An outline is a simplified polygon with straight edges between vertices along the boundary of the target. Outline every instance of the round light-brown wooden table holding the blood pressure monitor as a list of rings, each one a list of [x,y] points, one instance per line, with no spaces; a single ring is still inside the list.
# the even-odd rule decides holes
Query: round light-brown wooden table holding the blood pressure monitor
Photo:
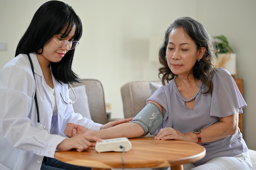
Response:
[[[129,139],[132,148],[124,153],[124,168],[163,168],[183,170],[182,164],[192,163],[205,156],[199,144],[187,141],[156,140],[153,137]],[[77,166],[97,169],[122,168],[122,152],[101,152],[94,148],[85,152],[57,151],[55,158]]]

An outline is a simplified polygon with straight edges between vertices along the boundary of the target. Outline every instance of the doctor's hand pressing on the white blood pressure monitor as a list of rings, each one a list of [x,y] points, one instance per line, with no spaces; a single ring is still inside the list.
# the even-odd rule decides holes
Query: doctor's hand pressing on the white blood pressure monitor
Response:
[[[75,137],[66,138],[60,144],[58,144],[58,150],[71,150],[76,149],[78,152],[87,150],[90,147],[95,147],[95,144],[88,140],[102,141],[102,139],[92,135],[77,135]]]

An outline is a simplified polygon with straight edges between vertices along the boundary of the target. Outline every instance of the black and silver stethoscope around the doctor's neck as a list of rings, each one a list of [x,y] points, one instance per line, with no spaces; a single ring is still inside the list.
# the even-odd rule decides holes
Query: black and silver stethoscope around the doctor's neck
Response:
[[[33,75],[34,75],[34,79],[36,81],[36,77],[35,77],[35,72],[34,72],[34,67],[33,67],[33,63],[32,63],[32,60],[31,60],[31,57],[29,55],[29,53],[27,53],[27,56],[29,57],[29,62],[30,62],[30,65],[31,65],[31,69],[32,69],[32,72],[33,72]],[[70,83],[69,83],[70,85]],[[62,97],[62,94],[61,94],[61,99],[62,101],[65,103],[65,104],[74,104],[76,102],[76,93],[74,92],[74,89],[72,88],[72,86],[70,85],[70,88],[72,90],[72,92],[74,93],[74,96],[75,96],[75,100],[74,101],[71,101],[71,102],[65,102],[65,100],[63,99]],[[60,92],[61,93],[61,92]],[[39,109],[38,109],[38,102],[37,102],[37,98],[36,98],[36,91],[35,91],[35,102],[36,102],[36,113],[37,113],[37,123],[38,125],[36,126],[36,128],[40,129],[40,130],[45,130],[45,126],[43,124],[40,124],[40,120],[39,120]]]

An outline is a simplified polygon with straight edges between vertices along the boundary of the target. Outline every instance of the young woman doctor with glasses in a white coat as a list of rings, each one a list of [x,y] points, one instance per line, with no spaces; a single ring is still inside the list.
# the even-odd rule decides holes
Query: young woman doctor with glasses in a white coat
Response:
[[[67,138],[67,123],[99,130],[130,121],[101,125],[74,113],[68,85],[78,82],[71,65],[81,35],[81,20],[69,5],[49,1],[36,11],[16,57],[0,72],[0,170],[88,170],[54,159],[56,150],[81,152],[94,146],[88,140],[101,141]]]

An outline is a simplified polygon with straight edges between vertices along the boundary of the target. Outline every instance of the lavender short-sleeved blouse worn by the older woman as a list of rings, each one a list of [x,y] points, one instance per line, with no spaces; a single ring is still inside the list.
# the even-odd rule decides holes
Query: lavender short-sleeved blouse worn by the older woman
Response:
[[[206,86],[201,84],[200,91],[195,97],[193,110],[186,108],[175,79],[168,85],[157,89],[148,100],[157,102],[164,108],[164,122],[159,129],[172,127],[182,133],[187,133],[195,128],[204,129],[211,126],[221,117],[243,113],[242,108],[247,104],[229,72],[224,68],[218,68],[213,73],[212,80],[212,93],[202,94]],[[196,166],[216,157],[235,156],[248,150],[239,128],[234,135],[201,145],[206,149],[206,155],[194,163]]]

